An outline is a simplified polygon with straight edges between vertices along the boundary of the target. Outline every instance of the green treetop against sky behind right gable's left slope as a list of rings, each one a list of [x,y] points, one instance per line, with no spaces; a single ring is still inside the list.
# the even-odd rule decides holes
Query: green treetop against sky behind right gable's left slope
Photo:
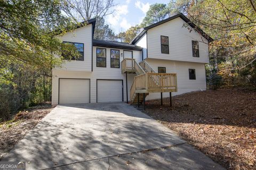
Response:
[[[162,21],[169,16],[169,13],[170,9],[166,4],[155,3],[153,5],[150,5],[145,18],[141,22],[141,26],[147,27],[148,25]]]

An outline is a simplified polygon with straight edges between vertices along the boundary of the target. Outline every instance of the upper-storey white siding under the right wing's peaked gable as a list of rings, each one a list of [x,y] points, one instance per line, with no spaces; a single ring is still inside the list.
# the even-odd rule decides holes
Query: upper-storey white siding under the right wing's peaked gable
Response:
[[[198,32],[183,27],[186,24],[181,18],[158,25],[147,31],[148,57],[172,61],[189,61],[209,63],[209,49],[207,40]],[[161,36],[169,37],[169,53],[161,53]],[[193,57],[192,40],[199,41],[199,56]]]

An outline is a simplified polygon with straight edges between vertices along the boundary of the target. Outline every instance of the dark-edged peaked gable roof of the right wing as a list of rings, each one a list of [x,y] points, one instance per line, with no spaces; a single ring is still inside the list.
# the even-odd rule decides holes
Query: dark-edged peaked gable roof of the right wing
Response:
[[[142,28],[140,30],[140,32],[133,38],[133,40],[131,41],[131,44],[135,44],[137,43],[137,41],[143,36],[145,35],[145,33],[147,32],[147,30],[149,30],[150,28],[154,28],[158,25],[161,25],[165,22],[168,22],[168,21],[171,21],[171,20],[174,20],[176,18],[180,17],[183,21],[185,21],[186,23],[188,23],[190,25],[190,27],[196,29],[199,33],[201,33],[201,35],[208,40],[208,42],[212,42],[213,39],[208,36],[203,30],[201,30],[200,28],[198,28],[193,22],[191,22],[185,15],[179,13],[177,15],[174,15],[174,16],[171,16],[170,18],[167,18],[165,20],[162,20],[162,21],[159,21],[157,23],[154,23],[154,24],[151,24],[149,25],[148,27],[145,27],[145,28]]]

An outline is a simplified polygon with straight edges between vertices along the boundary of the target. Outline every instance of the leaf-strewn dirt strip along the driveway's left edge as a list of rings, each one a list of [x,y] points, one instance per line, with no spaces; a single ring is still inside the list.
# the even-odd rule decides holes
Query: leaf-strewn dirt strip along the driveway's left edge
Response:
[[[12,120],[0,123],[0,161],[51,110],[51,104],[31,107],[13,115]]]

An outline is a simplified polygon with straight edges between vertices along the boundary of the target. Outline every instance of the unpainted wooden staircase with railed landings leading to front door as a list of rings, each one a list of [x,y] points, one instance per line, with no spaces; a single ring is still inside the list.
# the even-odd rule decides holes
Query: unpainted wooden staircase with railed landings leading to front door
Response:
[[[176,73],[156,73],[146,61],[138,64],[135,59],[122,61],[122,73],[136,73],[130,90],[130,104],[140,104],[150,92],[177,91]],[[139,102],[138,102],[139,100]]]

